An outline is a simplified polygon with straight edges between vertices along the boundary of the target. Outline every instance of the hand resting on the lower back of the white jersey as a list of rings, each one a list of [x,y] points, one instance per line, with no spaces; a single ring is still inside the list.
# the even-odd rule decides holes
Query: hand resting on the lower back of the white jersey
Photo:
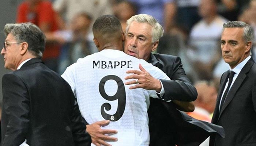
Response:
[[[101,129],[102,126],[109,124],[109,120],[103,120],[95,122],[90,125],[86,125],[86,131],[91,135],[91,141],[96,146],[111,146],[105,141],[117,141],[115,137],[109,137],[105,134],[116,134],[116,130]]]

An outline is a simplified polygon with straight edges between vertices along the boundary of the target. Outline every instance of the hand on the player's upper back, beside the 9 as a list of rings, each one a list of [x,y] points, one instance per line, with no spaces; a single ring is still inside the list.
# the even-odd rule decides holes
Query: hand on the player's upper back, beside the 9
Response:
[[[125,85],[134,86],[129,87],[129,89],[143,88],[147,90],[155,90],[157,92],[161,91],[161,83],[157,78],[154,78],[145,70],[141,64],[139,64],[140,70],[128,70],[126,73],[133,73],[130,76],[125,77],[125,80],[136,79],[133,81],[125,82]]]

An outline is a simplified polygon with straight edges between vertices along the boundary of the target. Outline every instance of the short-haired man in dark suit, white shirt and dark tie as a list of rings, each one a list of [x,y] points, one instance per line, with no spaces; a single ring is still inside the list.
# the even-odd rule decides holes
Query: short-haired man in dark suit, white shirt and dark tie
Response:
[[[210,146],[256,145],[256,64],[251,57],[253,30],[241,21],[223,24],[221,50],[230,69],[222,74],[212,123],[226,137],[210,137]]]

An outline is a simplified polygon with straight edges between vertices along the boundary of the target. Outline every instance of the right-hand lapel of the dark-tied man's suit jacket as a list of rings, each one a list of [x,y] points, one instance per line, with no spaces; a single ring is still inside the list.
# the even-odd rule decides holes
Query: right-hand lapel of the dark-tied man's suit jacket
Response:
[[[245,66],[242,68],[241,72],[238,74],[236,80],[234,81],[232,87],[230,88],[229,93],[227,94],[226,100],[223,104],[223,107],[221,109],[221,112],[219,114],[219,117],[221,116],[222,112],[225,110],[225,108],[227,107],[227,105],[230,103],[230,101],[234,98],[234,96],[236,95],[236,92],[238,90],[238,88],[241,86],[242,82],[244,81],[244,79],[246,78],[246,73],[249,72],[249,70],[251,69],[252,65],[253,65],[253,60],[252,58],[245,64]]]

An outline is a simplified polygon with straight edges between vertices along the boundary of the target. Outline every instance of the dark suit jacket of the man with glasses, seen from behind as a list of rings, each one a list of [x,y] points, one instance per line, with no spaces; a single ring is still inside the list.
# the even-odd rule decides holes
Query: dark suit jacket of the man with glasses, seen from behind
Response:
[[[25,139],[30,146],[91,142],[69,84],[40,59],[5,74],[2,86],[2,146],[18,146]]]

